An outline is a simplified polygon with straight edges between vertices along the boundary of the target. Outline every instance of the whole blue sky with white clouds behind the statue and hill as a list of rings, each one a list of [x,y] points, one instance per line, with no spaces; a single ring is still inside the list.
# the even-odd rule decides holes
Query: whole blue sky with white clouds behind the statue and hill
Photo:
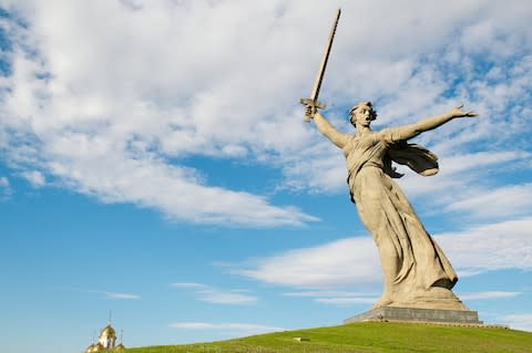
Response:
[[[380,294],[341,153],[349,131],[464,102],[400,186],[480,319],[532,331],[529,1],[0,1],[0,341],[81,352],[339,324]],[[7,344],[7,347],[6,347]]]

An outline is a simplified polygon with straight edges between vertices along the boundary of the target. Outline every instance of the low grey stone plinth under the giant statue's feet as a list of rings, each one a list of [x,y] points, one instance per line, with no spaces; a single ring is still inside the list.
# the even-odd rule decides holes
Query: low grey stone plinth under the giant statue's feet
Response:
[[[361,321],[407,321],[458,324],[482,324],[477,311],[381,307],[344,320],[344,323]]]

